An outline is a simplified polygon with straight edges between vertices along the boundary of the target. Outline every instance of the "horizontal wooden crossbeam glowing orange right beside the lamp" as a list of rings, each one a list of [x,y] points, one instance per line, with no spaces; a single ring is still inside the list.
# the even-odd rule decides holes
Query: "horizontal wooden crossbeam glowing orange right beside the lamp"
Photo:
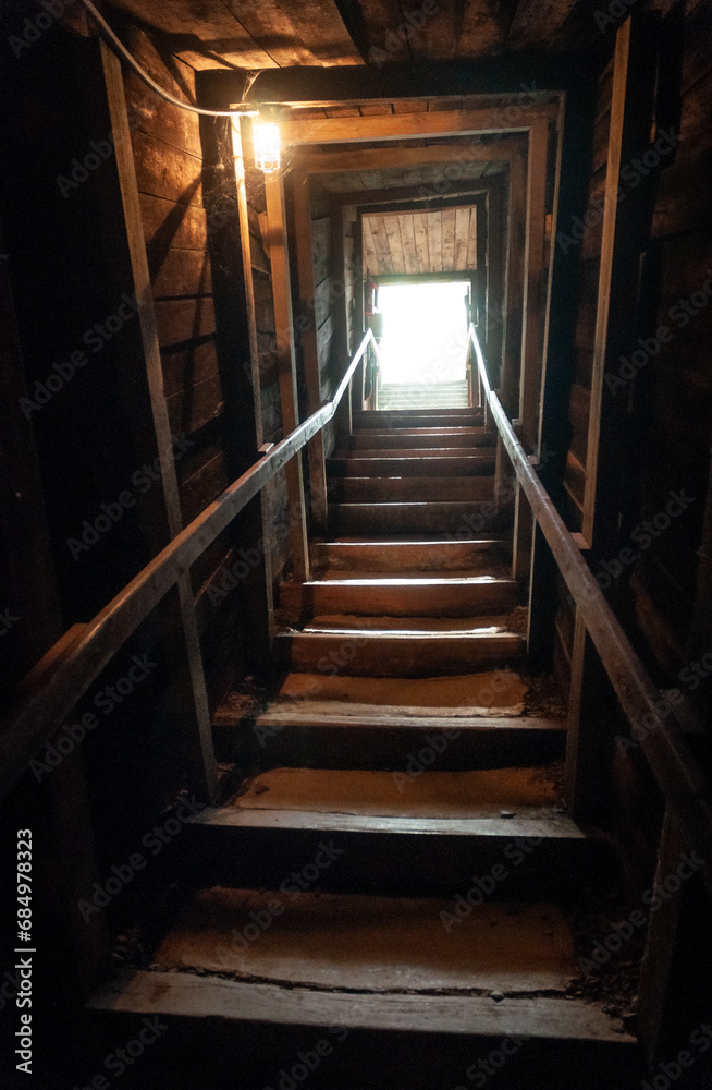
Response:
[[[537,121],[555,120],[556,102],[520,107],[507,114],[501,107],[477,110],[432,110],[427,113],[391,113],[372,118],[310,118],[298,120],[293,113],[281,125],[284,147],[295,145],[343,144],[348,141],[404,140],[422,136],[484,135],[499,132],[526,132]],[[398,160],[398,166],[400,166]]]

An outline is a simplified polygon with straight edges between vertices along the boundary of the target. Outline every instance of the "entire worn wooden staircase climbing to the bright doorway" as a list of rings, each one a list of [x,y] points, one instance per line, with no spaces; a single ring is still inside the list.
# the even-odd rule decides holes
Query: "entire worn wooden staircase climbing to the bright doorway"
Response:
[[[237,687],[216,717],[232,790],[184,834],[183,894],[150,956],[93,1006],[450,1042],[428,1075],[413,1058],[394,1071],[376,1044],[363,1081],[353,1059],[315,1078],[345,1090],[451,1090],[438,1073],[455,1039],[471,1058],[533,1042],[502,1086],[540,1085],[528,1065],[551,1049],[562,1086],[627,1085],[612,1079],[634,1038],[577,968],[581,901],[612,855],[561,802],[565,718],[525,673],[492,435],[471,409],[354,426],[329,462],[314,578],[280,590],[274,683]]]

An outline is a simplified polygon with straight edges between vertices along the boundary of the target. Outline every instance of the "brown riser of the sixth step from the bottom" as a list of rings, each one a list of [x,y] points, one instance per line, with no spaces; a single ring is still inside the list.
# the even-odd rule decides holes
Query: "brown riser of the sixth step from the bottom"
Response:
[[[464,541],[312,543],[312,565],[339,571],[464,571],[506,559],[506,547],[492,537]]]

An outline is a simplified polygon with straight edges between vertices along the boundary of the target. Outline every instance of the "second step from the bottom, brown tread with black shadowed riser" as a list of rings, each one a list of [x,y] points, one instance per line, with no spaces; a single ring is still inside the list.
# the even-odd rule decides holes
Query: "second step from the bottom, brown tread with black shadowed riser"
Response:
[[[536,776],[512,768],[505,774],[520,774],[523,783],[526,775],[532,782]],[[499,881],[487,882],[477,897],[481,904],[503,897],[568,900],[580,881],[611,873],[607,840],[587,835],[564,813],[521,801],[536,798],[536,791],[502,791],[511,801],[501,803],[494,791],[468,804],[468,787],[481,789],[477,777],[487,776],[501,777],[500,770],[420,777],[272,770],[248,780],[242,797],[200,811],[186,826],[183,879],[192,886],[279,886],[295,860],[314,860],[324,843],[336,848],[334,865],[312,884],[331,893],[456,897],[469,889],[474,873],[489,874],[500,864]],[[459,794],[447,790],[449,777],[462,778]],[[433,783],[425,783],[428,778]],[[433,799],[435,791],[444,797]]]

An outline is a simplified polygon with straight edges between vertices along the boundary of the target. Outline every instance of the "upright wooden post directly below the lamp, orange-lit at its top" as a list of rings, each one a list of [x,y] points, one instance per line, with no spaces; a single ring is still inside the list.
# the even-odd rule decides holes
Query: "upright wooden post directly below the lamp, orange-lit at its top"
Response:
[[[299,402],[296,385],[296,359],[294,355],[294,324],[292,320],[292,286],[286,239],[284,181],[281,172],[278,171],[273,174],[265,175],[265,196],[267,199],[267,232],[270,266],[272,269],[274,323],[277,326],[274,339],[280,376],[282,428],[284,435],[289,435],[299,423]],[[307,582],[309,579],[309,544],[304,498],[304,473],[299,455],[290,461],[285,472],[290,504],[292,564],[294,565],[294,574],[296,578],[302,582]]]

